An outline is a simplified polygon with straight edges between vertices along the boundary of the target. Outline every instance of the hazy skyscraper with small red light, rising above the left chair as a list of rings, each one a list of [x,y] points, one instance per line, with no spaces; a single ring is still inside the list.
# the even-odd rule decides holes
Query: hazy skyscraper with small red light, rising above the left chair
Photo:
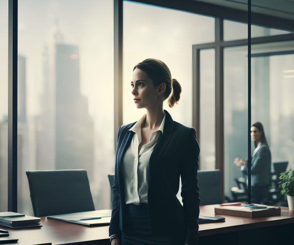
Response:
[[[81,169],[92,179],[94,125],[87,98],[80,92],[79,48],[55,45],[55,165]]]

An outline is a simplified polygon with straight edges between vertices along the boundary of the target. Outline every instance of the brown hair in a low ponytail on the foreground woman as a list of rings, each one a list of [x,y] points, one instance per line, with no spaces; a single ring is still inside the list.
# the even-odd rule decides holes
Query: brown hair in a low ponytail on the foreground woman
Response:
[[[181,85],[176,79],[172,79],[171,71],[164,62],[158,59],[146,59],[137,64],[133,71],[136,68],[145,72],[155,87],[165,83],[164,99],[169,98],[168,104],[170,107],[179,101],[182,92]]]

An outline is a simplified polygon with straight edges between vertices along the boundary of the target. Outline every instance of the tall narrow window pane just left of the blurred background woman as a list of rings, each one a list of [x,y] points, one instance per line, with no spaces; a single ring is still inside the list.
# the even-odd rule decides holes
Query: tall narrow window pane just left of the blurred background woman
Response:
[[[224,49],[224,193],[231,196],[234,181],[242,177],[235,157],[247,159],[248,76],[247,46]],[[246,175],[244,175],[247,178]]]

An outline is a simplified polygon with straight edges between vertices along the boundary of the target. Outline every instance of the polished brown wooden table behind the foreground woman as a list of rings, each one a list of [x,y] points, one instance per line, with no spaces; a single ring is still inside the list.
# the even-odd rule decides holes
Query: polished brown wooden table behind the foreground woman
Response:
[[[214,214],[217,205],[200,206],[200,215]],[[243,218],[219,215],[224,222],[199,224],[199,245],[270,245],[294,244],[294,211],[281,207],[281,216],[264,218]],[[10,229],[9,238],[19,239],[18,245],[109,245],[108,225],[89,227],[64,221],[41,218],[41,228]],[[1,239],[1,238],[0,238]]]

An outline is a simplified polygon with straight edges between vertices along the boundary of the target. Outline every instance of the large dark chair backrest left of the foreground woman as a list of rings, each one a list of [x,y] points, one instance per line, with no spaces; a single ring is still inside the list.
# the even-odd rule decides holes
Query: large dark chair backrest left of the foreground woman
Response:
[[[37,217],[94,211],[85,170],[26,171]]]

